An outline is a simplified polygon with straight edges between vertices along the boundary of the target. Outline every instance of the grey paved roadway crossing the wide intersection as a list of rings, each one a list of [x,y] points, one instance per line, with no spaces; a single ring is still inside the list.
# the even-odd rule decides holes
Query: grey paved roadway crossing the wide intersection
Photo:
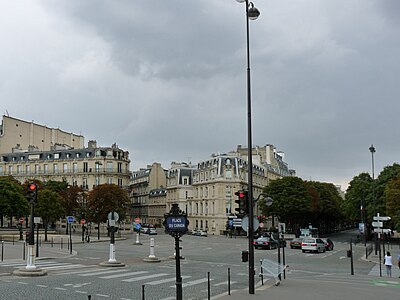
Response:
[[[150,254],[150,238],[155,240],[155,256],[158,263],[148,263],[144,259]],[[289,265],[285,277],[297,281],[342,282],[350,276],[348,236],[331,237],[335,242],[333,251],[325,253],[302,253],[298,249],[285,249],[286,264]],[[220,236],[181,238],[184,259],[181,260],[184,299],[207,299],[208,277],[212,297],[226,294],[228,272],[232,290],[248,287],[248,264],[241,262],[241,251],[247,249],[245,238]],[[13,269],[23,267],[16,263],[0,264],[0,299],[145,299],[172,300],[175,292],[174,239],[169,235],[141,235],[142,245],[135,245],[135,237],[116,242],[116,259],[125,267],[101,267],[99,263],[109,259],[109,243],[76,244],[77,255],[67,258],[38,260],[36,265],[46,269],[44,277],[18,277],[7,275]],[[262,258],[277,260],[277,250],[255,250],[256,272]],[[282,251],[281,251],[282,253]],[[362,244],[353,245],[354,273],[361,278],[371,277],[376,264],[362,260],[365,249]],[[358,278],[358,277],[357,277]],[[270,278],[266,278],[270,279]],[[269,282],[271,282],[270,280]],[[398,281],[398,280],[397,280]],[[259,277],[256,277],[259,282]],[[346,279],[346,282],[351,282]],[[359,284],[359,282],[354,281]],[[267,282],[268,283],[268,282]],[[369,282],[370,286],[374,286]],[[368,298],[364,298],[368,299]]]

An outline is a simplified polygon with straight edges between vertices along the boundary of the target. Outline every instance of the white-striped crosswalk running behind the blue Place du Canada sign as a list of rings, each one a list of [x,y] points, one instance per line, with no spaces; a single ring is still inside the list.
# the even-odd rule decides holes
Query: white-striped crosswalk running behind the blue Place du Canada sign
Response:
[[[157,269],[152,271],[138,270],[133,271],[129,268],[104,268],[98,265],[84,265],[80,263],[68,263],[68,262],[57,262],[57,261],[37,261],[36,267],[46,270],[51,273],[52,276],[68,276],[74,275],[79,277],[91,278],[102,280],[120,280],[121,282],[140,282],[144,285],[158,286],[158,285],[168,285],[171,288],[175,288],[176,274],[171,269],[171,272],[164,269],[164,272],[157,272]],[[24,268],[25,263],[1,263],[0,266],[11,267],[14,269]],[[200,277],[198,274],[196,277]],[[183,275],[182,287],[192,287],[196,285],[201,285],[207,283],[208,279],[204,276],[201,278],[193,278],[190,275]],[[227,285],[227,280],[221,278],[221,281],[217,282],[215,278],[210,278],[212,286],[218,287],[222,285]],[[236,281],[231,281],[231,284],[236,283]]]

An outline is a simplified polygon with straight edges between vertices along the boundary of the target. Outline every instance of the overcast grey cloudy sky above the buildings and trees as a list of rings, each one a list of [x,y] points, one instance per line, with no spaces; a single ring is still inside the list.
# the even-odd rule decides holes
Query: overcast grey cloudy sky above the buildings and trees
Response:
[[[400,1],[254,0],[253,146],[347,188],[399,162]],[[0,0],[2,115],[129,151],[131,170],[247,146],[245,4]]]

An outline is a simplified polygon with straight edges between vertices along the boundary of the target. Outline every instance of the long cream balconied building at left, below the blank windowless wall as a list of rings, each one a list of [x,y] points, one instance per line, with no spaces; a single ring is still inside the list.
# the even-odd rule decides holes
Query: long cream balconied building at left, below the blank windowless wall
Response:
[[[127,151],[116,144],[97,147],[95,141],[80,149],[57,147],[51,151],[0,154],[0,176],[11,175],[20,182],[64,180],[87,190],[104,183],[127,188],[131,178],[129,166]]]

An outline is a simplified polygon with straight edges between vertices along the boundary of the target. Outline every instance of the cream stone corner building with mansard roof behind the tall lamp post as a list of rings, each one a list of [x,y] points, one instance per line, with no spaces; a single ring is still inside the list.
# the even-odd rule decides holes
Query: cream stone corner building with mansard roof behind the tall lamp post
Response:
[[[270,180],[293,176],[272,145],[253,149],[253,196],[257,199]],[[189,228],[205,230],[220,235],[226,230],[228,216],[235,215],[234,193],[247,189],[247,149],[238,146],[237,151],[214,154],[199,162],[193,172],[193,198],[187,201]],[[258,208],[255,208],[258,214]]]

